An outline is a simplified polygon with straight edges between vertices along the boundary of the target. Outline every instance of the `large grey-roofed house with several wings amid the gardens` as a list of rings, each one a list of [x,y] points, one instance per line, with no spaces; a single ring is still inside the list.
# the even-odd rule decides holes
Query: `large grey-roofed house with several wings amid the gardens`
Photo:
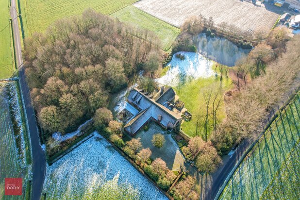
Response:
[[[124,130],[131,135],[137,133],[150,120],[155,121],[168,130],[180,130],[183,106],[176,106],[178,99],[171,87],[162,87],[156,94],[148,94],[134,88],[130,91],[127,102],[139,112],[124,126]]]

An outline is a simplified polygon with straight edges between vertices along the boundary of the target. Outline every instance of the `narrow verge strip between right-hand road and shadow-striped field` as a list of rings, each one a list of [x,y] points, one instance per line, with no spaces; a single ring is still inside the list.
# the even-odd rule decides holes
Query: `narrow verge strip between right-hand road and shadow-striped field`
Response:
[[[291,103],[292,100],[296,99],[296,97],[299,98],[298,96],[298,92],[299,92],[299,88],[296,91],[296,93],[294,95],[291,96],[291,98],[289,100],[287,100],[287,102],[281,107],[278,108],[277,112],[274,112],[274,109],[272,109],[273,112],[273,117],[271,117],[271,119],[268,121],[267,126],[264,128],[264,131],[260,134],[260,136],[252,143],[252,145],[250,145],[250,147],[243,153],[243,155],[241,156],[241,158],[239,159],[239,161],[235,164],[235,166],[233,167],[233,169],[230,171],[229,175],[227,176],[227,178],[225,179],[225,181],[223,182],[222,186],[220,187],[220,189],[217,192],[217,195],[215,197],[214,200],[218,200],[218,198],[220,197],[220,195],[222,194],[224,188],[226,187],[227,183],[229,182],[230,178],[233,176],[233,173],[235,172],[235,170],[237,169],[237,167],[240,166],[240,164],[243,162],[243,160],[245,159],[245,157],[250,153],[250,151],[253,149],[253,147],[260,141],[260,139],[262,138],[262,136],[266,133],[267,129],[269,128],[269,126],[276,120],[277,117],[281,116],[281,111],[283,111],[287,105],[289,105]],[[280,114],[280,115],[278,115]]]

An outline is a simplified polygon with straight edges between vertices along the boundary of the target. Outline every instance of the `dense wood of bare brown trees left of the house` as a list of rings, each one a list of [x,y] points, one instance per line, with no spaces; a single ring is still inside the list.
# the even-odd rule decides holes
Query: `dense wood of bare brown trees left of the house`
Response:
[[[26,38],[26,76],[45,134],[76,130],[137,70],[155,70],[160,46],[154,33],[93,10]]]

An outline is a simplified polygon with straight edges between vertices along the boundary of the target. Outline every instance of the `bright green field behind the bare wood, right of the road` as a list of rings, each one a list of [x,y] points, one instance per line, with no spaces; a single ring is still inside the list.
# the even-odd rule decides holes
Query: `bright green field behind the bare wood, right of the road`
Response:
[[[56,20],[81,15],[87,8],[110,15],[136,0],[20,0],[25,36],[44,32]]]

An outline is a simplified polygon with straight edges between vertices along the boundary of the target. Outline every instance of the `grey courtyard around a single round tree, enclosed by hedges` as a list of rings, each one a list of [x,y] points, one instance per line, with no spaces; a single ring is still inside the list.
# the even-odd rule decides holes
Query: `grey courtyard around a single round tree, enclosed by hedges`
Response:
[[[140,130],[135,138],[141,138],[141,142],[143,148],[149,148],[152,151],[151,158],[154,160],[155,158],[161,158],[167,163],[167,167],[173,171],[179,170],[180,166],[183,166],[184,158],[181,153],[177,143],[171,137],[173,132],[165,131],[161,126],[157,123],[151,121],[149,124],[149,130],[144,131]],[[165,144],[162,148],[156,148],[152,145],[152,137],[156,133],[161,133],[165,136]]]

